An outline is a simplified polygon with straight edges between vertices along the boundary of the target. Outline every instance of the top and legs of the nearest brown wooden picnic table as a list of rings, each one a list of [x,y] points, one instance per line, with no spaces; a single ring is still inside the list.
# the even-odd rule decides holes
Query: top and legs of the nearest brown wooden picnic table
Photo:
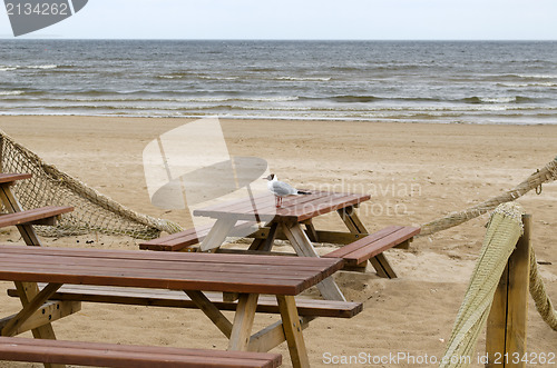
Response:
[[[303,320],[294,296],[333,275],[342,263],[333,258],[0,246],[0,280],[48,282],[25,300],[19,314],[1,320],[0,335],[13,336],[32,324],[39,308],[63,284],[184,290],[229,339],[229,350],[268,351],[286,340],[293,365],[307,367]],[[205,291],[238,294],[233,321]],[[276,297],[282,321],[252,336],[261,294]]]

